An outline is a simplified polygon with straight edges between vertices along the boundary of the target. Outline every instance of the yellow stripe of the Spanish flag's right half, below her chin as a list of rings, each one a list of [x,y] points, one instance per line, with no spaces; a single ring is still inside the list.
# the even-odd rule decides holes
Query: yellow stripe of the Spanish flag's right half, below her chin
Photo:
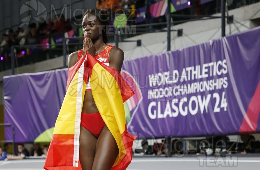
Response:
[[[113,165],[115,166],[121,161],[121,156],[126,154],[121,137],[121,134],[125,131],[126,124],[121,92],[115,78],[99,63],[96,63],[92,68],[90,84],[99,113],[114,136],[119,148],[118,158]]]

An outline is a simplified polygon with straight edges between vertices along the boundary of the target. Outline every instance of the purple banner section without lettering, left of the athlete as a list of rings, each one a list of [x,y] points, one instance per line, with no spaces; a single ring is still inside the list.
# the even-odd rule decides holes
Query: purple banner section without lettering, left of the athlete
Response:
[[[41,135],[50,141],[67,77],[68,69],[61,69],[3,78],[4,122],[14,125],[15,142],[34,142]],[[5,140],[12,140],[9,127],[5,128]]]

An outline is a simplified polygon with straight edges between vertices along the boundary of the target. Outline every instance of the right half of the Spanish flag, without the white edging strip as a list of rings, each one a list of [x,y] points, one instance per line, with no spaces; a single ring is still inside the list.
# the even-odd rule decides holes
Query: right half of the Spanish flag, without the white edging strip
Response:
[[[120,73],[96,58],[88,56],[90,84],[94,101],[119,148],[112,169],[126,169],[132,160],[134,136],[127,132],[124,104],[133,94]]]

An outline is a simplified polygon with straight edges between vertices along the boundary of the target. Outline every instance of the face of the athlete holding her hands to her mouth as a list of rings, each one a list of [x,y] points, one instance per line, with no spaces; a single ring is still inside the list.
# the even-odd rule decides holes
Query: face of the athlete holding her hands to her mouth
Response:
[[[100,24],[99,19],[92,14],[86,14],[82,21],[82,31],[84,34],[87,34],[92,41],[102,37],[102,25]]]

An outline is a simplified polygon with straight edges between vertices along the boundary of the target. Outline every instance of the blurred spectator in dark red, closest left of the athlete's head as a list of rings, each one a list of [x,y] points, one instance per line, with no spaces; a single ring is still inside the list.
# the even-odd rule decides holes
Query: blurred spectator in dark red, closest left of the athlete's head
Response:
[[[62,34],[72,29],[70,23],[65,20],[64,15],[55,15],[55,24],[51,27],[52,33]]]

